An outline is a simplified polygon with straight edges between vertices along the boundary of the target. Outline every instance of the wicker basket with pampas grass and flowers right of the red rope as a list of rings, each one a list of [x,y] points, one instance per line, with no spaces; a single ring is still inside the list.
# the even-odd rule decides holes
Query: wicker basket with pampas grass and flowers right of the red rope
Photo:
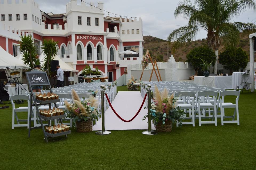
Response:
[[[155,97],[153,97],[150,114],[157,131],[171,131],[172,122],[176,120],[181,124],[185,113],[177,107],[177,99],[174,94],[169,96],[166,88],[160,93],[155,86]],[[146,120],[146,117],[148,115],[145,115],[142,120]]]

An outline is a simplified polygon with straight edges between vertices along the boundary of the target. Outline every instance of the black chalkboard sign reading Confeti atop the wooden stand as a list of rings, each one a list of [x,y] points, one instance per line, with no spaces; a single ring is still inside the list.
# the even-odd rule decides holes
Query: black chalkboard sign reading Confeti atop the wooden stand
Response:
[[[50,84],[46,72],[30,71],[26,72],[26,76],[30,86],[42,86]]]

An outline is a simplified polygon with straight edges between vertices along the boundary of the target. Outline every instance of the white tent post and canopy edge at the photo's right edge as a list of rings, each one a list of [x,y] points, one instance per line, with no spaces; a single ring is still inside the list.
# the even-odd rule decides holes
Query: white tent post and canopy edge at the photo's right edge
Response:
[[[251,79],[251,91],[255,89],[255,82],[254,82],[254,53],[256,49],[254,49],[254,41],[256,37],[256,32],[249,35],[250,38],[250,79]]]

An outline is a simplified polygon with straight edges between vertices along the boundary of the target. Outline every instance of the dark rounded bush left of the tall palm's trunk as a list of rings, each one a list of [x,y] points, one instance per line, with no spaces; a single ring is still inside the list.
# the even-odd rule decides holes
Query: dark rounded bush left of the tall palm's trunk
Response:
[[[213,63],[213,66],[216,61],[215,53],[206,45],[196,47],[190,50],[190,52],[187,54],[187,61],[191,62],[196,71],[196,74],[203,68],[202,60],[204,60],[206,63]]]

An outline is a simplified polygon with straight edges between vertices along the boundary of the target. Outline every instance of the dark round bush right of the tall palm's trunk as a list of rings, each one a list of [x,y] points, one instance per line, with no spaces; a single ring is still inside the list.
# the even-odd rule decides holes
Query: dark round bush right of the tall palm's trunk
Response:
[[[225,69],[230,70],[230,74],[232,74],[233,70],[246,68],[247,62],[248,56],[241,47],[228,47],[219,54],[219,63],[221,63]]]

